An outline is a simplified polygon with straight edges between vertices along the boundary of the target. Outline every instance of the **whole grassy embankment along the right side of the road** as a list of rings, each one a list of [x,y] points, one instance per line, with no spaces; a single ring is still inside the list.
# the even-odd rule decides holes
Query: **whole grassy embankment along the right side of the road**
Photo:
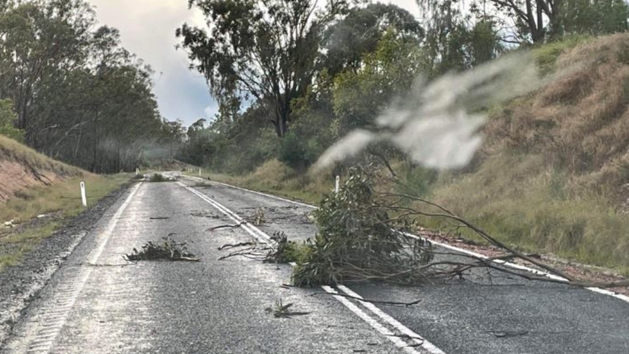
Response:
[[[493,108],[484,146],[464,173],[434,181],[421,168],[402,168],[399,175],[506,243],[628,275],[629,35],[572,38],[535,55],[543,74],[581,65]],[[276,160],[247,176],[209,176],[311,203],[333,188],[329,174],[299,175]]]

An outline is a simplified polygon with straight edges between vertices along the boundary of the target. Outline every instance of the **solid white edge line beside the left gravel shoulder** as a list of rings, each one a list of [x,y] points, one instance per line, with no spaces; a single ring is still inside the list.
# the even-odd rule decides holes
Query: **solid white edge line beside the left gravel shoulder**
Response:
[[[118,225],[118,219],[120,219],[127,205],[131,202],[131,198],[135,195],[135,192],[138,191],[140,184],[142,184],[142,182],[135,185],[125,202],[120,205],[113,217],[109,219],[106,229],[97,236],[98,246],[88,255],[88,262],[92,265],[96,264],[101,253],[103,253],[103,249],[111,238],[114,228]],[[91,273],[92,268],[89,266],[79,268],[79,270],[72,275],[70,280],[65,283],[67,286],[61,288],[60,292],[55,294],[50,302],[50,307],[47,306],[43,311],[42,327],[35,334],[35,338],[28,344],[27,353],[48,353],[52,349],[58,334],[61,329],[64,328],[70,311],[72,311],[72,307],[74,307],[76,299],[79,297]]]

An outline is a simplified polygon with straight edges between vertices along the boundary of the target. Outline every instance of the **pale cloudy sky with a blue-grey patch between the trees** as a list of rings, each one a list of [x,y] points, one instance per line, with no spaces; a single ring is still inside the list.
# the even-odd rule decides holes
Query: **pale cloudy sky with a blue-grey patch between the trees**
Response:
[[[175,29],[186,22],[202,25],[200,11],[188,9],[188,0],[88,1],[96,6],[99,24],[118,28],[123,46],[153,67],[154,92],[163,117],[181,119],[184,125],[214,117],[217,107],[204,77],[189,70],[187,55],[175,50]],[[415,0],[382,2],[419,16]]]

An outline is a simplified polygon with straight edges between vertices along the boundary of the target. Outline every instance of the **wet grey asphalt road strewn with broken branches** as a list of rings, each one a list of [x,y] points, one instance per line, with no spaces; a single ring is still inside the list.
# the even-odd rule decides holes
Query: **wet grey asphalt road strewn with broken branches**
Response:
[[[210,227],[255,219],[265,223]],[[144,182],[96,224],[43,288],[2,353],[629,353],[629,303],[560,284],[487,277],[423,287],[282,287],[289,265],[218,260],[224,244],[313,236],[312,208],[245,190]],[[167,219],[164,219],[167,218]],[[201,261],[125,253],[168,236]],[[369,304],[315,292],[411,301]],[[308,312],[274,317],[276,303]]]

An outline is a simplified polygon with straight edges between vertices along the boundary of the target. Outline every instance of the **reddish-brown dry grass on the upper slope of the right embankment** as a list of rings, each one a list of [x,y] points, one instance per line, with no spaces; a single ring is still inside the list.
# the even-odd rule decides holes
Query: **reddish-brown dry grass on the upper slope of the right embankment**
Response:
[[[623,183],[629,147],[629,35],[590,40],[560,55],[578,69],[494,115],[484,156],[540,154],[599,188]]]

